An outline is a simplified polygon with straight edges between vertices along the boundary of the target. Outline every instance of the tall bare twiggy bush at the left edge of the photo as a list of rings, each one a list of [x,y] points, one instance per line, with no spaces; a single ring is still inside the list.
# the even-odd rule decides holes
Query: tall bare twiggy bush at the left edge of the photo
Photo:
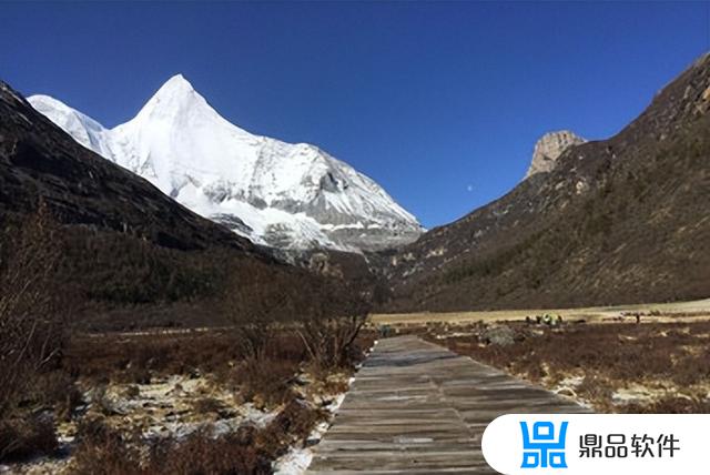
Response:
[[[0,425],[41,370],[61,354],[67,294],[55,286],[61,262],[58,228],[44,205],[23,225],[4,230],[0,252]],[[0,459],[11,446],[0,445]]]

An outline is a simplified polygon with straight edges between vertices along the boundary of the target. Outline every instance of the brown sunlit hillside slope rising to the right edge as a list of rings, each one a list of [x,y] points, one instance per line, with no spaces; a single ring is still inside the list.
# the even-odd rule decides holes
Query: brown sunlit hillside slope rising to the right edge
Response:
[[[710,295],[710,55],[617,135],[388,259],[390,311]]]

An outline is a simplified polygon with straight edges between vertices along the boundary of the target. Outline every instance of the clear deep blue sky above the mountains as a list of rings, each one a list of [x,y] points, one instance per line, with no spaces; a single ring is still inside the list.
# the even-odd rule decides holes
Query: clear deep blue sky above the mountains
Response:
[[[709,2],[2,3],[0,78],[106,127],[182,72],[426,226],[500,196],[549,130],[616,133],[710,50]]]

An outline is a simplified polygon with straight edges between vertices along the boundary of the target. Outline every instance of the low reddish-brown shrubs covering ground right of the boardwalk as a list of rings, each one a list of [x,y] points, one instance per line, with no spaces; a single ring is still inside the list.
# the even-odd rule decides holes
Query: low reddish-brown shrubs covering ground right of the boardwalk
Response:
[[[509,323],[526,334],[521,323]],[[429,329],[436,332],[436,329]],[[613,406],[616,387],[649,381],[672,382],[679,391],[710,382],[710,351],[704,335],[710,322],[564,325],[540,327],[515,345],[501,348],[476,344],[480,325],[469,325],[471,336],[437,340],[453,351],[469,355],[523,377],[554,383],[572,374],[585,374],[576,388],[579,396],[602,411],[707,412],[708,404],[692,397],[665,398],[648,406]],[[443,333],[444,335],[446,332]],[[426,335],[432,337],[432,335]],[[544,366],[548,371],[544,370]],[[692,394],[692,391],[690,391]]]

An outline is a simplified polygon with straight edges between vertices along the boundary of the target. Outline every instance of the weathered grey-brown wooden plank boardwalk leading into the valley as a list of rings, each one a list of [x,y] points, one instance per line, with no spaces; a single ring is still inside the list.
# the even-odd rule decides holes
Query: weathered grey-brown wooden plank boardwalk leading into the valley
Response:
[[[493,474],[486,425],[506,413],[584,407],[416,336],[381,340],[308,474]]]

